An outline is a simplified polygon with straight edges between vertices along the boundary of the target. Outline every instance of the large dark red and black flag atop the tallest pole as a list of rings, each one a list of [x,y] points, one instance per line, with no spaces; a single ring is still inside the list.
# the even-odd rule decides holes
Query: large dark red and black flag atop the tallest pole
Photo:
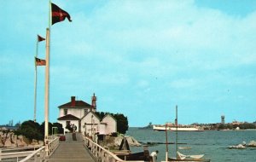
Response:
[[[54,25],[56,22],[61,22],[62,20],[72,21],[70,15],[64,11],[63,9],[59,8],[54,3],[51,3],[51,25]]]

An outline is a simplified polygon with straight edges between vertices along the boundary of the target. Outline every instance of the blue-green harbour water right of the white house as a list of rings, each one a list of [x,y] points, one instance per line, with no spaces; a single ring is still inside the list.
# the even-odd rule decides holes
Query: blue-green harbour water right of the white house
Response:
[[[126,135],[134,136],[139,142],[166,142],[166,132],[139,130],[130,128]],[[256,162],[256,148],[228,149],[231,145],[256,141],[256,130],[206,130],[202,132],[177,132],[178,147],[190,147],[189,150],[178,150],[183,154],[205,154],[205,159],[212,162]],[[168,131],[168,142],[176,142],[176,132]],[[166,145],[158,144],[149,147],[149,152],[158,150],[158,161],[165,160]],[[168,145],[169,157],[175,157],[176,146]],[[131,147],[132,152],[143,151],[142,147]]]

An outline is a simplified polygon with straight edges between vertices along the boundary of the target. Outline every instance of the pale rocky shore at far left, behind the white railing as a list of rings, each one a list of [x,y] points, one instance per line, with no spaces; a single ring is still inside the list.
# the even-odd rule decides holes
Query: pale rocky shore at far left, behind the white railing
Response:
[[[16,148],[16,147],[26,147],[44,145],[44,142],[37,140],[28,140],[25,136],[17,136],[12,131],[0,131],[0,148]]]

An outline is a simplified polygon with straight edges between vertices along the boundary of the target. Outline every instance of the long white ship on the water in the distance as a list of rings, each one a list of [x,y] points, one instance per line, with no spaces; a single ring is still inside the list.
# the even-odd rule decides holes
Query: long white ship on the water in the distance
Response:
[[[178,124],[177,126],[172,123],[167,124],[154,124],[153,130],[155,131],[166,131],[166,130],[172,130],[172,131],[203,131],[203,129],[199,126],[195,125],[183,125]]]

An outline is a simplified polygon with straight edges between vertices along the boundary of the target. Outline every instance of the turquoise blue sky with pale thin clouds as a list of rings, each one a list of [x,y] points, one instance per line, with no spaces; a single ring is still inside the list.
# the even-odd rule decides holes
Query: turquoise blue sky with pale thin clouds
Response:
[[[77,100],[130,126],[256,121],[256,1],[52,0],[72,22],[50,26],[49,121]],[[37,35],[49,2],[0,0],[0,124],[33,119]],[[38,44],[45,58],[45,41]],[[37,121],[44,121],[38,67]]]

